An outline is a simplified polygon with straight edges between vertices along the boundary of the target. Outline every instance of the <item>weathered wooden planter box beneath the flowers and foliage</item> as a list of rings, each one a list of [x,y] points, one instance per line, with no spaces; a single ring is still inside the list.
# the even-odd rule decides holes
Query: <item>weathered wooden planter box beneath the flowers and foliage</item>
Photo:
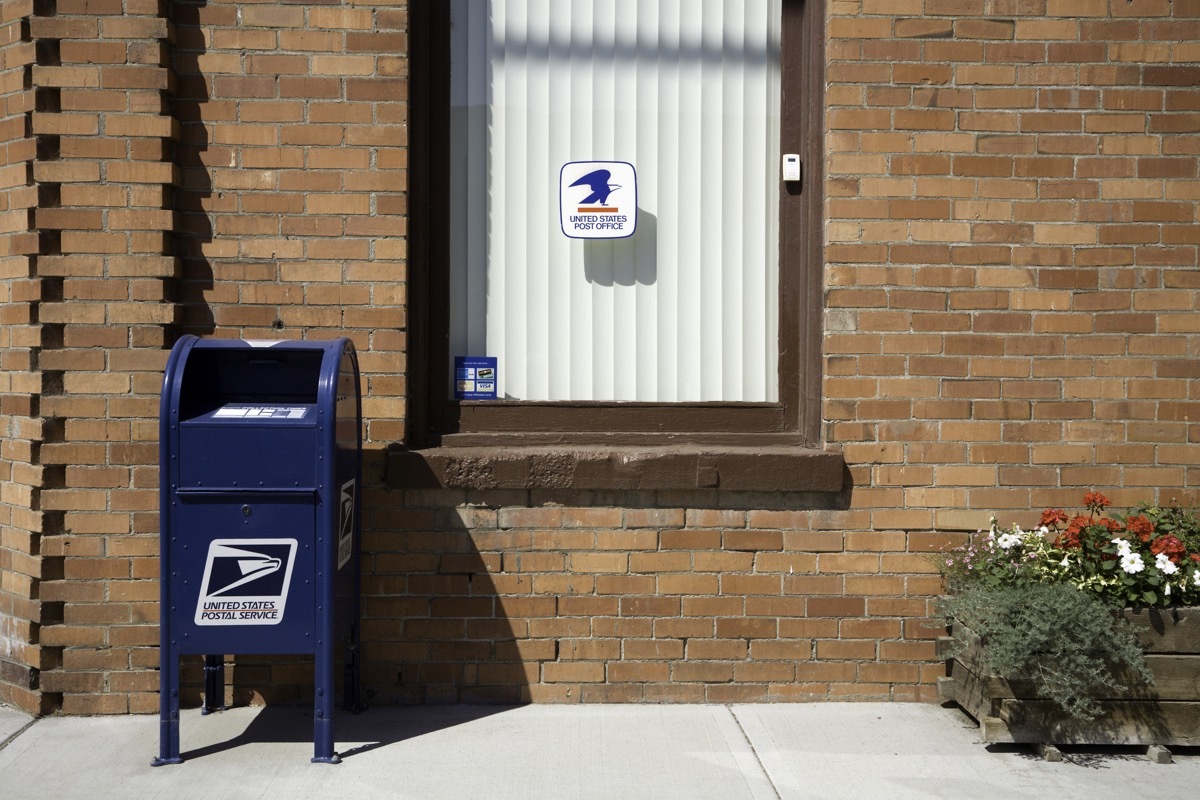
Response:
[[[953,630],[938,643],[948,672],[938,679],[938,697],[978,720],[989,744],[1200,745],[1200,608],[1127,610],[1124,615],[1139,630],[1154,681],[1102,698],[1104,712],[1096,720],[1074,720],[1039,697],[1027,681],[1008,681],[984,670],[978,648],[955,654]]]

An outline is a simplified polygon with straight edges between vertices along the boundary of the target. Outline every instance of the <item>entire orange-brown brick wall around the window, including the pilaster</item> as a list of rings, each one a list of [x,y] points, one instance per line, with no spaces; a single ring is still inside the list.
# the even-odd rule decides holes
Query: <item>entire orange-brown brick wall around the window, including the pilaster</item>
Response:
[[[178,332],[358,344],[376,702],[931,699],[930,551],[1091,488],[1198,500],[1200,0],[829,0],[838,497],[406,489],[407,4],[170,5],[170,47],[144,0],[32,19],[46,443],[6,440],[0,513],[44,530],[6,525],[0,603],[40,591],[44,700],[155,708]]]

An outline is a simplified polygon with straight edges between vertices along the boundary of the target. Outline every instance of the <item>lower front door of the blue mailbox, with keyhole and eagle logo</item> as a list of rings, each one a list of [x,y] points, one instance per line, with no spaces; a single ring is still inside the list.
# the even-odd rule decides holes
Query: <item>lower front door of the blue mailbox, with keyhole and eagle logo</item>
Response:
[[[172,638],[179,652],[313,652],[308,493],[178,493]]]

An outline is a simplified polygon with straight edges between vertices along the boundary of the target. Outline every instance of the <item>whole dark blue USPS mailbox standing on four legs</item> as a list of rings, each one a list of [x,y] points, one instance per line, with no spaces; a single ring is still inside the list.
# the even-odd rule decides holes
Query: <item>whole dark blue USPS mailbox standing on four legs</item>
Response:
[[[334,658],[356,708],[361,397],[336,341],[202,339],[172,349],[160,413],[158,764],[178,764],[179,658],[205,656],[204,712],[223,654],[312,654],[313,760],[334,752]]]

